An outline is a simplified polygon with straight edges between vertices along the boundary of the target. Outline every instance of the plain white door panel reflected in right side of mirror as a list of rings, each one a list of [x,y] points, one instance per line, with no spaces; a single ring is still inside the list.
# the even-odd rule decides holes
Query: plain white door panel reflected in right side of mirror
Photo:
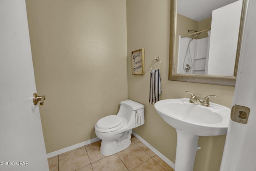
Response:
[[[242,0],[212,11],[209,75],[233,76]]]

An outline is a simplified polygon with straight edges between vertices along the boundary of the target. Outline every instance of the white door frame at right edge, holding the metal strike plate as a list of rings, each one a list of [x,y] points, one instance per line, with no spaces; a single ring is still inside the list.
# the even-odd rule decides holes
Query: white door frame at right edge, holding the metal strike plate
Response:
[[[247,2],[247,1],[246,1]],[[230,120],[220,171],[256,171],[256,1],[248,0],[233,105],[250,108],[247,124]]]

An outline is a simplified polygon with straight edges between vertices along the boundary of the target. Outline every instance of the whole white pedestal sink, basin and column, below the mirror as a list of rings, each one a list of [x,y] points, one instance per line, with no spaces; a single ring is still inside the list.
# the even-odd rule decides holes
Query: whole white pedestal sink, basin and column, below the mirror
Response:
[[[210,107],[189,99],[165,99],[155,103],[158,114],[177,131],[175,171],[193,171],[199,136],[227,133],[230,108],[210,103]]]

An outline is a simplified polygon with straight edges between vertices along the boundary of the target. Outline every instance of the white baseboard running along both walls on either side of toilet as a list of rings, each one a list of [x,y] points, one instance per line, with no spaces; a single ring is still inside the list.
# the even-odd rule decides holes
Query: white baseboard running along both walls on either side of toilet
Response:
[[[162,153],[160,153],[157,149],[155,149],[154,147],[152,147],[147,141],[145,141],[142,137],[140,137],[138,134],[136,134],[134,131],[132,131],[132,135],[134,135],[134,137],[138,138],[144,145],[146,145],[150,150],[152,150],[156,155],[158,155],[165,163],[167,163],[170,167],[172,168],[175,168],[175,164],[172,163],[172,161],[170,161],[167,157],[165,157]],[[69,147],[66,147],[64,149],[60,149],[60,150],[57,150],[57,151],[54,151],[52,153],[48,153],[46,154],[47,155],[47,158],[50,158],[50,157],[54,157],[56,155],[60,155],[62,153],[66,153],[70,150],[73,150],[73,149],[77,149],[79,147],[82,147],[82,146],[85,146],[85,145],[88,145],[88,144],[91,144],[91,143],[94,143],[96,141],[100,141],[100,138],[96,137],[96,138],[93,138],[93,139],[90,139],[88,141],[84,141],[82,143],[78,143],[78,144],[75,144],[75,145],[72,145],[72,146],[69,146]]]

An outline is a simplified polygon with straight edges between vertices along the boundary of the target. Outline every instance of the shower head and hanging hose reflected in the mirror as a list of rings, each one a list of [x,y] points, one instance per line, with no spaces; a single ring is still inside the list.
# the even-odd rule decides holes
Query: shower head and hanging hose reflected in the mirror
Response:
[[[196,33],[197,31],[196,30],[188,30],[188,32],[191,32],[191,31],[194,31],[194,33]],[[201,33],[201,32],[200,32]],[[196,38],[196,36],[198,36],[198,34],[200,33],[196,33],[196,34],[193,34],[191,37],[190,37],[190,40],[188,42],[188,47],[187,47],[187,51],[186,51],[186,55],[185,55],[185,58],[184,58],[184,61],[183,61],[183,69],[184,71],[188,72],[189,70],[192,69],[193,67],[193,61],[192,61],[192,56],[190,54],[190,42],[192,42],[192,40],[194,40],[194,38]],[[186,64],[185,66],[185,61],[186,59],[188,60],[188,64]]]

